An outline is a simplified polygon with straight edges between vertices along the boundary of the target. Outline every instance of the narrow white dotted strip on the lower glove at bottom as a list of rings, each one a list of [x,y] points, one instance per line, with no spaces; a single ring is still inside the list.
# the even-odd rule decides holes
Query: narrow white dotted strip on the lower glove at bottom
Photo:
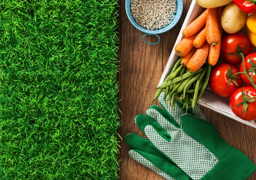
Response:
[[[156,166],[154,166],[154,164],[152,164],[149,160],[144,158],[139,153],[137,153],[137,152],[135,152],[133,150],[130,150],[129,151],[129,155],[131,156],[131,158],[136,160],[138,163],[141,163],[142,165],[144,165],[144,166],[148,167],[149,169],[153,170],[154,172],[156,172],[157,174],[159,174],[160,176],[162,176],[166,180],[175,180],[175,178],[169,176],[168,174],[163,172],[161,169],[159,169]]]

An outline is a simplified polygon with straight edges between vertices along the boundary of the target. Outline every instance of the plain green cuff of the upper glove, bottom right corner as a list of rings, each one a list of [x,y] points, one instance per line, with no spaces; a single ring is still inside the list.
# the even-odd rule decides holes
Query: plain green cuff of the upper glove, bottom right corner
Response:
[[[244,153],[231,147],[201,180],[246,180],[255,170],[256,166]]]

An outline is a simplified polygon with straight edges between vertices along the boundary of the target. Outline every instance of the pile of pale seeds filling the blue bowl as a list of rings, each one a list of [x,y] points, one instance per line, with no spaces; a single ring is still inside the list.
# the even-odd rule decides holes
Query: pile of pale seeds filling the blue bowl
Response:
[[[148,30],[169,25],[176,10],[176,0],[131,0],[132,17],[138,25]]]

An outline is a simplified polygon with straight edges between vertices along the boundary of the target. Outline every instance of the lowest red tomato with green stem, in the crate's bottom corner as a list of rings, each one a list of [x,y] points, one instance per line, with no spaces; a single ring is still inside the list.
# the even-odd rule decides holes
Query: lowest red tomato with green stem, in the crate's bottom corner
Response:
[[[244,97],[243,97],[244,96]],[[256,102],[247,102],[245,103],[244,100],[246,98],[252,98],[250,101],[256,101],[256,90],[252,86],[246,86],[241,87],[238,90],[236,90],[231,98],[230,98],[230,107],[233,113],[235,113],[239,118],[245,120],[245,121],[252,121],[256,119]],[[237,106],[240,104],[239,106]],[[243,113],[244,106],[247,106],[245,108],[245,112]],[[237,106],[237,107],[236,107]]]

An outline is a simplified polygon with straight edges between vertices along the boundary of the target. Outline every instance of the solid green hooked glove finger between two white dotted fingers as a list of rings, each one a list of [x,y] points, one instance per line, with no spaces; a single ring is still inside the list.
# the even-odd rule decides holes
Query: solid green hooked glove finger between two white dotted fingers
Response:
[[[163,127],[160,126],[160,124],[157,123],[154,119],[150,119],[145,115],[139,114],[135,118],[135,123],[137,126],[143,131],[145,134],[145,127],[150,125],[151,127],[154,127],[154,129],[157,129],[157,132],[164,138],[166,141],[171,141],[171,135],[169,135]],[[177,128],[176,128],[177,129]]]

